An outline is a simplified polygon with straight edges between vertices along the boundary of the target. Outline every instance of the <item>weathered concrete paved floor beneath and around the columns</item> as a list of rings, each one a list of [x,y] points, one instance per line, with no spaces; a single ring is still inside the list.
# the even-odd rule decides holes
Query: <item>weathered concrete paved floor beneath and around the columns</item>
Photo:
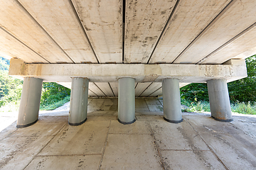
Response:
[[[78,127],[68,125],[68,111],[41,111],[28,128],[13,123],[0,132],[0,169],[256,169],[255,115],[224,123],[183,113],[173,124],[149,105],[161,100],[137,100],[144,111],[132,125],[117,122],[117,98],[90,99]]]

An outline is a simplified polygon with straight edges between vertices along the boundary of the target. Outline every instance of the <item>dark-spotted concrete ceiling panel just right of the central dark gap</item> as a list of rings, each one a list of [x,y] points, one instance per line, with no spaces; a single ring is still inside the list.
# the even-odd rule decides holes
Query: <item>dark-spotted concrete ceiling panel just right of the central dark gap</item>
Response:
[[[126,1],[124,62],[146,63],[176,1]]]

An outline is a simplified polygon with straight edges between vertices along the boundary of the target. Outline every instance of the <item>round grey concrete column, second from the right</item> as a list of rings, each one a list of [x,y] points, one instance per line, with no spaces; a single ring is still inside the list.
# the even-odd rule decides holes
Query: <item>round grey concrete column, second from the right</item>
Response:
[[[181,96],[178,79],[163,79],[164,120],[170,123],[181,123]]]

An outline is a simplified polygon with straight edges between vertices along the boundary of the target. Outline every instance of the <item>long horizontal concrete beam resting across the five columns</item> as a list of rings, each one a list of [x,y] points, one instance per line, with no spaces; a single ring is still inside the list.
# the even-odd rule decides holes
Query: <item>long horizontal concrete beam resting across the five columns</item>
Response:
[[[48,82],[71,82],[71,77],[87,77],[91,82],[112,82],[132,77],[136,82],[179,79],[180,83],[204,83],[210,79],[228,82],[247,77],[245,60],[224,64],[26,64],[11,59],[9,75],[18,79],[36,77]]]

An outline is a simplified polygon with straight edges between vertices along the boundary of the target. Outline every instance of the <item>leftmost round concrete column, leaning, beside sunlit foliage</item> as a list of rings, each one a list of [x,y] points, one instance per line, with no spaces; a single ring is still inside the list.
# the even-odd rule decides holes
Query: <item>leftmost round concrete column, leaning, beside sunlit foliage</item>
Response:
[[[18,111],[17,128],[33,125],[38,120],[43,79],[25,77]]]

